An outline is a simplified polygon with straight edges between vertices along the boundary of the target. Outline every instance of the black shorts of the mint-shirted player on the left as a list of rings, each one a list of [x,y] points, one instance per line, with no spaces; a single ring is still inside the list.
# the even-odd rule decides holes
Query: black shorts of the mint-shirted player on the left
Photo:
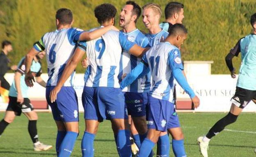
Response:
[[[14,111],[17,115],[21,115],[21,113],[31,112],[34,108],[32,104],[30,104],[30,100],[28,98],[24,98],[22,104],[17,102],[17,97],[9,96],[9,104],[7,106],[6,111]]]

